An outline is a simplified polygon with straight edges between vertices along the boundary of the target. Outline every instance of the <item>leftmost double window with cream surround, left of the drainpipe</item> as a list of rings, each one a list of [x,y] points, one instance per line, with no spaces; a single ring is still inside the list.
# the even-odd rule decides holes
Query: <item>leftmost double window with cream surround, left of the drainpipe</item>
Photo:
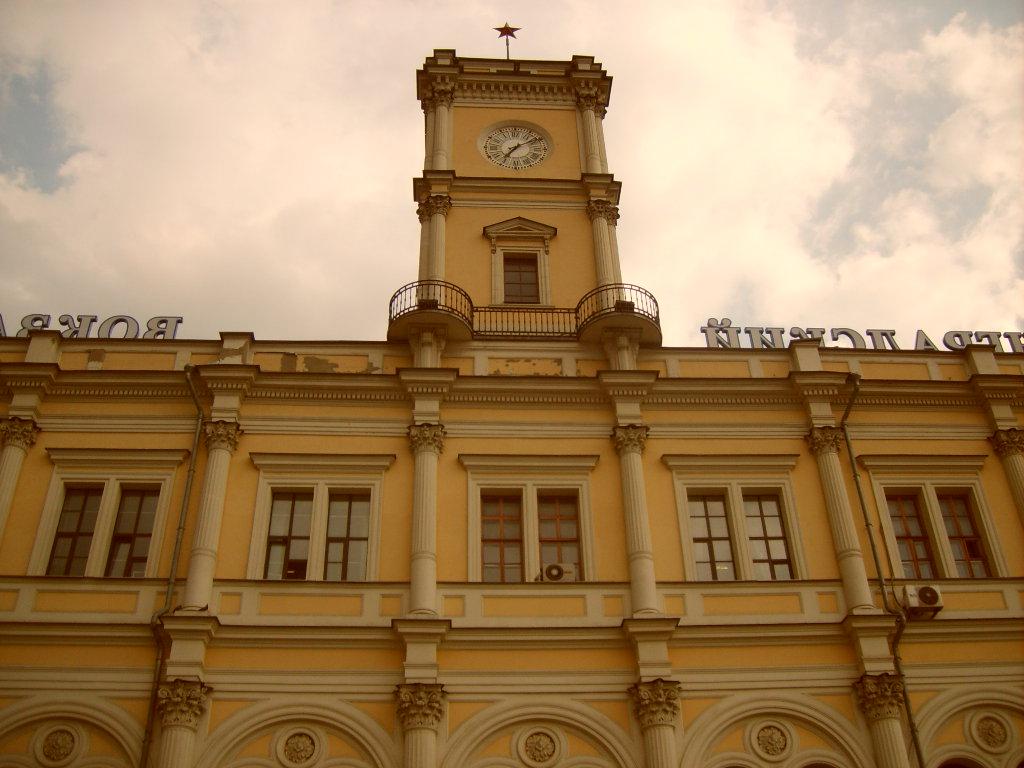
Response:
[[[171,487],[186,451],[49,449],[54,464],[30,575],[157,575]]]

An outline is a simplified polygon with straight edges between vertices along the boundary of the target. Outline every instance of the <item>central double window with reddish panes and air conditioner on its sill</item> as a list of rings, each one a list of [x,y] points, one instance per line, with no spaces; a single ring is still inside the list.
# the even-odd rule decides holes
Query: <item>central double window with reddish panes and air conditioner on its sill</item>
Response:
[[[592,579],[596,456],[459,457],[469,477],[469,581],[535,582],[560,563]]]

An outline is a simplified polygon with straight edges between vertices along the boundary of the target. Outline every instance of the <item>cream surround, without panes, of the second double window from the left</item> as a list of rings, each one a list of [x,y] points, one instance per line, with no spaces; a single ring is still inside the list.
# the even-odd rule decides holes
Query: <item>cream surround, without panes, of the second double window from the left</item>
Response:
[[[377,581],[380,568],[381,504],[384,473],[394,454],[250,454],[259,470],[256,509],[246,578],[267,581],[266,541],[274,492],[312,492],[313,516],[309,529],[309,559],[305,582],[324,581],[327,517],[332,492],[370,493],[370,534],[367,572],[362,581]],[[344,582],[343,582],[344,583]]]

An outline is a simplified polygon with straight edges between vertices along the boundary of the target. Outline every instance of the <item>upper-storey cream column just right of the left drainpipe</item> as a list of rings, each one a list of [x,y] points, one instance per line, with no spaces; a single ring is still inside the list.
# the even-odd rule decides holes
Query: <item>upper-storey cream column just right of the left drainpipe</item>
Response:
[[[206,475],[182,601],[183,607],[191,609],[206,608],[210,604],[213,577],[217,568],[220,519],[224,514],[224,498],[227,494],[227,471],[231,464],[231,454],[242,435],[239,425],[230,421],[207,422],[205,428]]]

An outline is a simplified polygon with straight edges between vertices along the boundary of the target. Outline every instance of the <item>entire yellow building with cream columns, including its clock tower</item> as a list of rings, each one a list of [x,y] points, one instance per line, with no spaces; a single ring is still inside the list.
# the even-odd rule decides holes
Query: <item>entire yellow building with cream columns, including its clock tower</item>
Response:
[[[602,67],[417,86],[386,341],[0,339],[0,766],[1024,765],[1024,354],[666,347]]]

